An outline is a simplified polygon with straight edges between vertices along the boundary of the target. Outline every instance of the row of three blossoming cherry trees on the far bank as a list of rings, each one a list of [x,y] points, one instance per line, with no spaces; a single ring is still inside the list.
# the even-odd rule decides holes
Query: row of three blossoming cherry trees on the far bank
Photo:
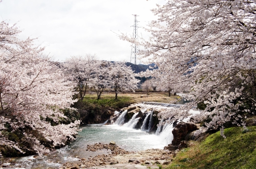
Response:
[[[83,100],[88,88],[100,99],[106,88],[114,88],[116,99],[120,91],[134,91],[139,80],[130,66],[124,62],[98,60],[95,55],[73,56],[63,63],[66,76],[77,84],[77,92]]]

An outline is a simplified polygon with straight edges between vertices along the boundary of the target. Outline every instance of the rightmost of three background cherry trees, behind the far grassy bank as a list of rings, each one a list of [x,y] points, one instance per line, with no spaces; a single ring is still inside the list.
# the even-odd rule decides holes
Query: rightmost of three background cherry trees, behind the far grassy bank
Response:
[[[137,89],[139,80],[135,79],[136,74],[130,66],[124,62],[114,62],[110,72],[111,85],[114,86],[116,99],[119,91],[134,91]]]

